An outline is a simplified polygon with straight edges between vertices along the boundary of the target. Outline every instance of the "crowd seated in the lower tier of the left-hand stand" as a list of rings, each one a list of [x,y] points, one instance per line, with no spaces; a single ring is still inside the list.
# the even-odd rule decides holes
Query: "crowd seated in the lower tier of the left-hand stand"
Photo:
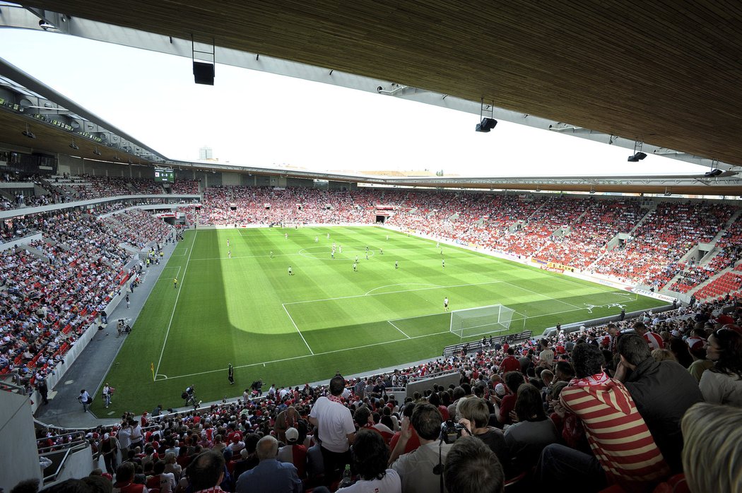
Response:
[[[142,211],[119,217],[113,227],[82,212],[27,216],[43,239],[0,252],[0,374],[43,383],[130,276],[119,245],[170,231]]]

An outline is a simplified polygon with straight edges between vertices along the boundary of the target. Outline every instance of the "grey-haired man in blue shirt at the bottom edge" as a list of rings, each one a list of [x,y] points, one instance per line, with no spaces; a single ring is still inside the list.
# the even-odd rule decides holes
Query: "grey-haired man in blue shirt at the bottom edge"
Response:
[[[293,464],[276,460],[278,441],[270,435],[257,442],[260,463],[237,479],[237,493],[299,493],[301,480]]]

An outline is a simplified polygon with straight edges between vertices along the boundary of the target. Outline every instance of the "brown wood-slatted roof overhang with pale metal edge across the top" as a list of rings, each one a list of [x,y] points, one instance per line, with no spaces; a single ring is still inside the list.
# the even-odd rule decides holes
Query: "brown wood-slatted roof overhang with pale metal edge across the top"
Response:
[[[41,28],[76,36],[181,56],[192,38],[217,62],[473,113],[483,100],[495,118],[742,166],[737,1],[24,4]]]

